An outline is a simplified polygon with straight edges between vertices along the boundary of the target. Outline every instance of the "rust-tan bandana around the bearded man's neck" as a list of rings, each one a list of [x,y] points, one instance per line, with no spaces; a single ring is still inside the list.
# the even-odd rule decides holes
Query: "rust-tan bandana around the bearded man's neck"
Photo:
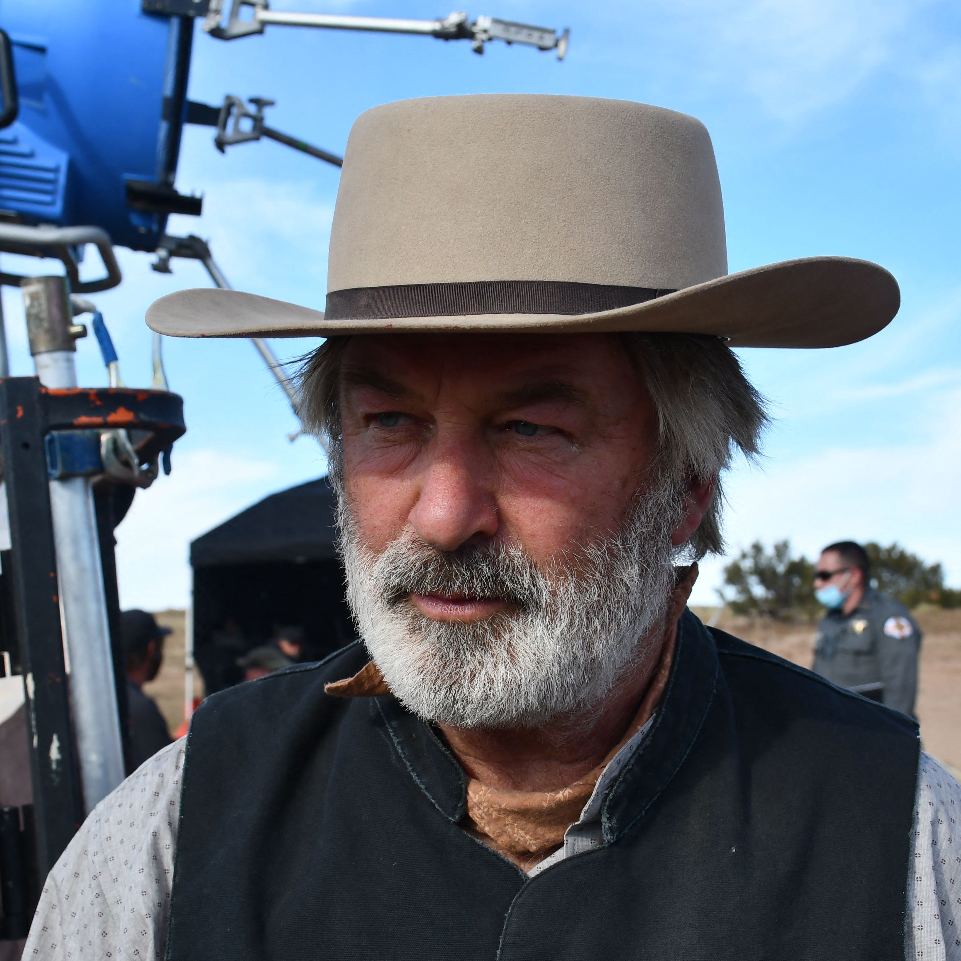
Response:
[[[697,577],[697,564],[692,564],[682,574],[671,597],[660,659],[651,683],[624,736],[607,752],[601,764],[559,791],[508,791],[488,787],[477,778],[470,778],[467,783],[468,824],[464,826],[472,834],[526,871],[560,847],[564,832],[579,819],[604,768],[631,737],[648,723],[657,709],[671,675],[678,618]],[[370,698],[390,693],[373,661],[361,668],[353,678],[334,681],[327,684],[324,690],[340,698]]]

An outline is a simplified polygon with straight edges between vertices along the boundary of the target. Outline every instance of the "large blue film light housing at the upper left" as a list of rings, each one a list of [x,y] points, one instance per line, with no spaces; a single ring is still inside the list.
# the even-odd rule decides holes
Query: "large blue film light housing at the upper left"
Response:
[[[194,23],[140,8],[0,0],[19,96],[17,120],[0,130],[0,208],[28,224],[89,224],[115,244],[156,249],[164,191],[176,197],[183,95],[179,111],[174,103]]]

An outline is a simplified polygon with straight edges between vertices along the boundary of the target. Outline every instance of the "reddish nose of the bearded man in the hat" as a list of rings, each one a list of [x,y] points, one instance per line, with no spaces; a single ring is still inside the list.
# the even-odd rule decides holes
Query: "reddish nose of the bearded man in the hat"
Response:
[[[435,438],[422,455],[419,497],[408,519],[424,542],[439,551],[456,551],[497,532],[497,503],[481,446],[467,438]]]

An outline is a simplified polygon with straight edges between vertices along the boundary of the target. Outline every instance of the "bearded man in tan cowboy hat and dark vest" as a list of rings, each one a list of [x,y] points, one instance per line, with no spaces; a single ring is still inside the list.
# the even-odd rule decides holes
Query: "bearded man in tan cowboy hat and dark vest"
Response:
[[[328,338],[302,413],[361,640],[209,698],[64,853],[27,956],[953,956],[961,789],[915,724],[685,608],[766,419],[730,346],[850,343],[898,303],[860,260],[727,276],[692,117],[363,114],[326,315],[148,313]]]

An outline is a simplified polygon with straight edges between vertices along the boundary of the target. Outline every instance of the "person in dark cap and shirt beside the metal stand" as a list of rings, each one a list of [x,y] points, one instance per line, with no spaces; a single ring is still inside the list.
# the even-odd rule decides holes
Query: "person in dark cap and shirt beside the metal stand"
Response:
[[[145,610],[125,610],[120,614],[120,635],[127,667],[130,763],[135,769],[171,743],[170,731],[160,709],[143,693],[143,685],[160,673],[163,638],[170,632],[170,628],[160,627],[154,615]]]

